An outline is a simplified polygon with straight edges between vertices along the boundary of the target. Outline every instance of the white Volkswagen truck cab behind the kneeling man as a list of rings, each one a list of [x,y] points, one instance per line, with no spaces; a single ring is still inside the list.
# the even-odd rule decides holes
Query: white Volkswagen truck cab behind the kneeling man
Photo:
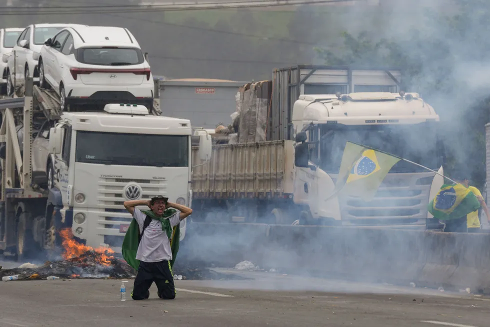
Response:
[[[190,206],[192,130],[189,120],[148,116],[143,105],[107,104],[104,111],[65,112],[50,128],[47,210],[59,212],[53,232],[67,225],[87,245],[117,251],[132,219],[125,200],[163,195]],[[185,220],[180,230],[183,239]]]

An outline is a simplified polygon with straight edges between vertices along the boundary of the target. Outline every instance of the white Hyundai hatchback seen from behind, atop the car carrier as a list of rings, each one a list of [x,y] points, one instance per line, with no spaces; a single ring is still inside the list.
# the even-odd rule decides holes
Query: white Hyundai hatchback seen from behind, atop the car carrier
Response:
[[[41,87],[53,88],[63,110],[119,102],[152,108],[151,69],[127,28],[66,27],[46,41],[38,66]]]

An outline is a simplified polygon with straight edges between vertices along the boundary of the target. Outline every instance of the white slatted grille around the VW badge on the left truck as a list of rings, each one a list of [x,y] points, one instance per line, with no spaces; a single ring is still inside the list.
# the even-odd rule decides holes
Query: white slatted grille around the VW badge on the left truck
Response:
[[[166,196],[166,181],[131,178],[99,178],[97,205],[101,209],[120,209],[126,200],[122,192],[129,182],[138,183],[142,190],[142,198],[155,195]]]

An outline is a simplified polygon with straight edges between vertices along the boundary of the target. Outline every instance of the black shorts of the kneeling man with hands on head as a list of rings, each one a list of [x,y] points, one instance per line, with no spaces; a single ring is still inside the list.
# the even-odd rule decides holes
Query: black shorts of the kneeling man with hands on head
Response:
[[[175,298],[175,285],[170,269],[170,261],[139,262],[138,273],[134,279],[131,297],[135,300],[149,297],[149,287],[153,283],[158,288],[158,297],[162,299]]]

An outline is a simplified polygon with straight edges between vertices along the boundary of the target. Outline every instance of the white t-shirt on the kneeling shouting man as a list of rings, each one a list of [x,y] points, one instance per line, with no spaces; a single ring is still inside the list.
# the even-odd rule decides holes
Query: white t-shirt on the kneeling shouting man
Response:
[[[143,230],[144,219],[146,214],[138,208],[134,208],[133,218],[139,225],[139,231]],[[180,214],[177,211],[174,215],[167,218],[170,225],[176,226],[180,223]],[[151,219],[149,225],[144,229],[141,235],[141,241],[136,252],[136,259],[143,262],[158,262],[162,260],[172,259],[172,250],[170,241],[164,230],[161,230],[161,222],[156,219]]]

